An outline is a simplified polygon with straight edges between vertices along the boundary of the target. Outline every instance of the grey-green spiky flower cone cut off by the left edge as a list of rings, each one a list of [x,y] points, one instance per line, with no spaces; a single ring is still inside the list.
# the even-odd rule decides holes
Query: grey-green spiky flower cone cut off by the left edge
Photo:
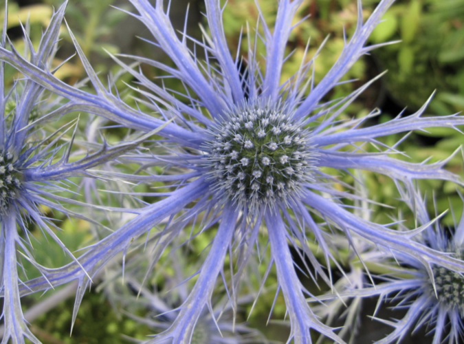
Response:
[[[0,150],[0,212],[8,211],[8,206],[21,187],[19,172],[14,168],[13,155]]]

